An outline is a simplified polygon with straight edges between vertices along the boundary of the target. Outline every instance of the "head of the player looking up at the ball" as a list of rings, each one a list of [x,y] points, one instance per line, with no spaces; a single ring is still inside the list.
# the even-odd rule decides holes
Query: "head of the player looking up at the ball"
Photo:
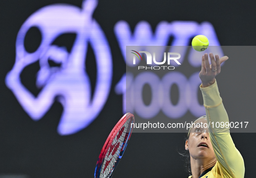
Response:
[[[216,161],[214,149],[209,137],[206,116],[202,116],[194,121],[191,126],[188,139],[185,143],[185,149],[188,150],[191,159],[204,159],[206,161]]]

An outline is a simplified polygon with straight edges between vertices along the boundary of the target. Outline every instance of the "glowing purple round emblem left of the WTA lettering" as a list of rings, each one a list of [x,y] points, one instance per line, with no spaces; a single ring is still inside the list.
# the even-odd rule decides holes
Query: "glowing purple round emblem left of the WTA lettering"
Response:
[[[15,64],[6,76],[6,86],[34,121],[45,115],[58,96],[63,106],[57,129],[61,135],[76,133],[87,127],[102,110],[110,92],[112,57],[104,32],[92,18],[96,6],[97,0],[84,0],[82,8],[65,4],[45,6],[29,16],[16,38]],[[24,47],[24,39],[32,27],[40,30],[42,41],[35,52],[29,53]],[[65,33],[76,33],[70,52],[52,45],[58,36]],[[85,67],[88,43],[93,48],[97,64],[92,97]],[[49,58],[61,66],[49,66]],[[37,60],[40,70],[36,85],[42,90],[35,97],[21,83],[20,74]]]

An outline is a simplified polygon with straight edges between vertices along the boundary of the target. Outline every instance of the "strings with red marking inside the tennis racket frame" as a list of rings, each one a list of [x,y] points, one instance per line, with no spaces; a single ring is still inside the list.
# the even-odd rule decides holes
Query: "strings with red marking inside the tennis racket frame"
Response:
[[[118,156],[120,155],[123,144],[127,139],[126,131],[130,127],[130,123],[131,120],[128,119],[117,132],[117,135],[114,137],[110,148],[107,150],[107,154],[100,171],[100,178],[107,178],[107,176],[110,174],[115,162],[117,161]]]

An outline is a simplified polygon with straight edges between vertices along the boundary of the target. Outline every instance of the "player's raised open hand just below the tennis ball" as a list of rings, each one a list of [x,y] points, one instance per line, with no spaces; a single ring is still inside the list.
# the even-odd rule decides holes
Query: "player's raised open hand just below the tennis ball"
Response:
[[[199,77],[202,81],[203,88],[210,86],[215,82],[215,76],[220,73],[220,64],[228,59],[227,56],[219,58],[218,55],[215,55],[214,58],[214,55],[212,53],[210,53],[209,56],[211,58],[211,65],[209,64],[208,54],[205,53],[202,56],[202,68],[199,73]]]

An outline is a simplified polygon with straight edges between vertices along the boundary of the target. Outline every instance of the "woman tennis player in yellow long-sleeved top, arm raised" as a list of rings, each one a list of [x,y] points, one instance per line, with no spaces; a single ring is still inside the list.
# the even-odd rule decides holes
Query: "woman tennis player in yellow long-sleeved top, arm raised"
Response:
[[[209,56],[211,65],[208,54],[204,54],[199,73],[206,116],[194,121],[195,124],[202,124],[199,128],[191,127],[185,143],[185,149],[190,154],[192,175],[189,178],[243,178],[245,172],[243,157],[230,137],[229,127],[215,128],[214,124],[208,129],[203,126],[204,123],[210,122],[229,122],[215,80],[215,76],[220,73],[220,64],[228,57],[219,58],[215,55],[214,58],[212,53]]]

